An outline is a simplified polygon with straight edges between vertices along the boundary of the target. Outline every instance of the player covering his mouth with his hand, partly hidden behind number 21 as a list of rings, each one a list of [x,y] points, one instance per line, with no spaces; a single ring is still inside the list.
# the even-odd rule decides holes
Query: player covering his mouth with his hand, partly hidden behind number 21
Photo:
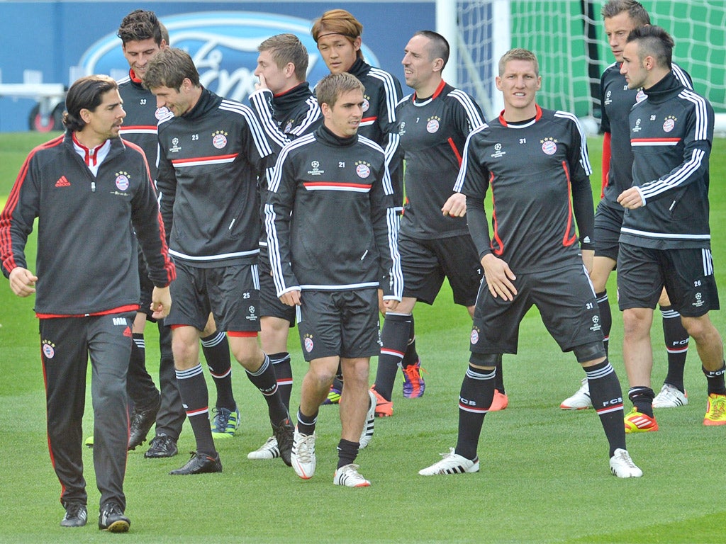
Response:
[[[291,139],[314,131],[322,123],[317,99],[306,81],[308,51],[294,34],[277,34],[264,40],[258,47],[255,75],[259,82],[250,94],[250,105],[258,115],[260,125],[269,140],[282,148]],[[276,147],[273,146],[273,147]],[[260,199],[267,200],[267,178],[261,179]],[[261,208],[264,224],[264,207]],[[287,352],[287,335],[295,325],[295,308],[282,303],[277,297],[267,252],[264,229],[260,239],[260,343],[269,354],[277,376],[277,387],[282,402],[290,409],[293,390],[293,368]],[[269,437],[257,450],[248,453],[250,459],[280,457],[277,439]]]

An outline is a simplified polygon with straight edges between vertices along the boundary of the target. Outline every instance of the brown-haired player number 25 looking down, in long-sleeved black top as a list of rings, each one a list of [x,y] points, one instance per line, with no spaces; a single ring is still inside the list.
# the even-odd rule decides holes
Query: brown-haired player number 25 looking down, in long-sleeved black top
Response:
[[[160,120],[157,185],[179,281],[172,327],[174,366],[197,441],[197,451],[171,474],[220,472],[208,419],[208,392],[199,363],[199,338],[211,311],[227,331],[234,358],[267,401],[280,456],[290,464],[293,425],[269,357],[258,347],[260,221],[257,178],[272,154],[250,108],[203,88],[191,57],[159,51],[144,75]]]

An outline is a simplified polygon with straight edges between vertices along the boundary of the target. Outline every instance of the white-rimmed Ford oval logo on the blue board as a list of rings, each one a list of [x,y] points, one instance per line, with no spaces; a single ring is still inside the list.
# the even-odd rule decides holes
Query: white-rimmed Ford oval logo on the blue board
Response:
[[[203,86],[226,98],[242,102],[255,90],[257,46],[270,36],[292,33],[308,50],[308,81],[317,83],[329,72],[310,35],[312,22],[298,17],[257,12],[196,12],[160,17],[174,47],[191,55]],[[378,66],[378,58],[362,46],[366,61]],[[129,73],[121,40],[107,34],[89,47],[79,62],[86,74],[108,74],[121,79]]]

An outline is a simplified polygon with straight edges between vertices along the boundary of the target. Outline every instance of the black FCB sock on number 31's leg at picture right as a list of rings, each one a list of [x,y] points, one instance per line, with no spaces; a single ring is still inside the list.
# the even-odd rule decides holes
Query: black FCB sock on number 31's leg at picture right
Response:
[[[625,448],[625,426],[623,424],[623,393],[617,374],[610,362],[585,368],[587,383],[590,385],[590,399],[600,423],[603,424],[605,436],[610,443],[610,456],[618,448]]]

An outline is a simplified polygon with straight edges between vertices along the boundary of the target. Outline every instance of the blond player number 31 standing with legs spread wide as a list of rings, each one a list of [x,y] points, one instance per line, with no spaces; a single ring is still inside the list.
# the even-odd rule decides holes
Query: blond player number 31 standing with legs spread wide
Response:
[[[640,477],[643,471],[625,448],[620,383],[605,354],[587,277],[595,218],[582,129],[574,115],[537,105],[542,78],[531,51],[507,51],[496,83],[504,111],[468,137],[455,186],[466,195],[469,230],[485,279],[459,397],[459,437],[456,448],[419,474],[479,470],[477,445],[494,397],[496,363],[502,353],[517,352],[519,325],[536,305],[560,348],[573,352],[587,373],[610,445],[611,471],[621,478]],[[491,232],[484,211],[490,189]]]

